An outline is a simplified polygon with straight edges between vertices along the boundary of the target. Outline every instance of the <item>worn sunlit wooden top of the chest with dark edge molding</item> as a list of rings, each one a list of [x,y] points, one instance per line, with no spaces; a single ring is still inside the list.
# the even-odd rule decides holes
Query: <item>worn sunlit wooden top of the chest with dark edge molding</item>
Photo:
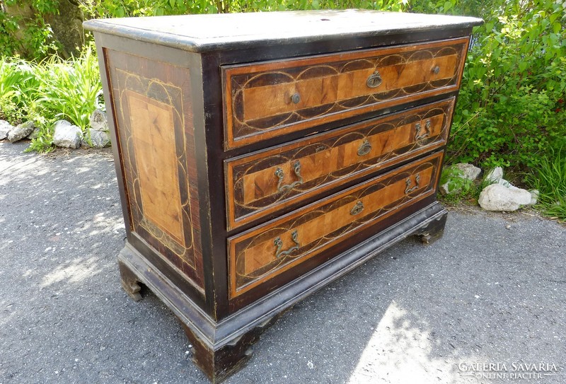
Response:
[[[481,23],[480,18],[471,17],[349,9],[109,18],[85,21],[83,25],[95,32],[204,52],[265,43],[470,28]]]

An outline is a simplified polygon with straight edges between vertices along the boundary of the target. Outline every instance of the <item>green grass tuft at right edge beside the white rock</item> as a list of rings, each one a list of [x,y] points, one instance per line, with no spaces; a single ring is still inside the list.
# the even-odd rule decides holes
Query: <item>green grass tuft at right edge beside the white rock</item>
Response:
[[[538,190],[538,206],[544,214],[566,221],[566,146],[541,158],[526,182]]]

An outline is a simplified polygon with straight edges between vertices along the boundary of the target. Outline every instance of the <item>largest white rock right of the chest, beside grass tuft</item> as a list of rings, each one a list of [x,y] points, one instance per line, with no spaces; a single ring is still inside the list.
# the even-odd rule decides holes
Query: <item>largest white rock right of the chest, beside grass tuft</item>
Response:
[[[531,204],[531,194],[521,188],[510,189],[501,184],[487,185],[480,193],[478,203],[487,211],[516,211]]]

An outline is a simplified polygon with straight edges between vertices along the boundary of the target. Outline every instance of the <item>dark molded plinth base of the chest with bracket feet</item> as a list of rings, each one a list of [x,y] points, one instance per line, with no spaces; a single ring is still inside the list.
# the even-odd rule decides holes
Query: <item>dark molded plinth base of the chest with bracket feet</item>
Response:
[[[437,240],[444,230],[446,214],[446,209],[435,202],[219,321],[204,313],[129,244],[118,256],[122,286],[137,301],[142,283],[166,303],[192,344],[193,361],[212,383],[219,383],[245,365],[260,334],[284,310],[410,235],[419,235],[428,243]]]

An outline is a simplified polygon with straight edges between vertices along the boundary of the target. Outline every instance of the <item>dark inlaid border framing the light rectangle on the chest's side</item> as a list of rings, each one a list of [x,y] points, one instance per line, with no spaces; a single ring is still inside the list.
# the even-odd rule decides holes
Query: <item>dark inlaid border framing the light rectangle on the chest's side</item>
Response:
[[[156,251],[156,255],[180,269],[188,277],[187,281],[204,295],[189,70],[113,50],[105,50],[105,59],[110,74],[117,144],[120,146],[132,232],[145,240]],[[132,119],[129,116],[129,98],[132,97],[171,111],[173,122],[170,129],[174,136],[172,145],[176,177],[170,180],[170,187],[179,197],[183,238],[175,238],[168,228],[163,228],[144,214],[137,170],[139,164],[136,160],[137,156],[144,156],[144,153],[137,153],[134,145]]]

